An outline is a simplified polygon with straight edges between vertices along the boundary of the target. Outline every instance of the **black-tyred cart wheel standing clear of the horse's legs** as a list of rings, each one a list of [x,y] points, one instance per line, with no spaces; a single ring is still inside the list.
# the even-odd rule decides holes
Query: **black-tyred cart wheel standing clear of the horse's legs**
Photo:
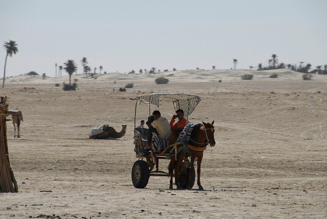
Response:
[[[146,161],[137,160],[132,168],[132,182],[135,188],[143,189],[149,181],[149,168]]]

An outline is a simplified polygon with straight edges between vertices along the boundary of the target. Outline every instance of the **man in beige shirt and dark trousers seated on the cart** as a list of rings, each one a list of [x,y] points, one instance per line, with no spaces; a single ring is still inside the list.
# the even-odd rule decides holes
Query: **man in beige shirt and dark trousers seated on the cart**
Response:
[[[160,139],[168,139],[171,134],[168,120],[161,116],[159,110],[153,111],[152,115],[154,121],[151,124],[147,124],[149,127],[149,133],[147,137],[146,149],[151,148],[152,132],[157,133]]]

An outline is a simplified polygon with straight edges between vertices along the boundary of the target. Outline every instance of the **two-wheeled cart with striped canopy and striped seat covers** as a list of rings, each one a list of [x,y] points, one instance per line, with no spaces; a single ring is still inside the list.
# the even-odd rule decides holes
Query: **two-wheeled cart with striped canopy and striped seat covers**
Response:
[[[188,117],[201,101],[199,96],[195,95],[185,95],[185,94],[164,94],[164,93],[155,93],[151,95],[141,95],[135,98],[137,103],[143,102],[149,105],[149,114],[150,104],[155,104],[159,107],[159,101],[172,101],[175,111],[182,109],[185,112],[186,117]],[[136,106],[135,106],[135,118],[136,118]],[[134,127],[136,126],[134,119]],[[145,188],[150,176],[171,176],[169,173],[159,170],[159,160],[168,159],[170,160],[172,154],[176,153],[177,146],[180,146],[182,143],[177,142],[169,145],[169,140],[158,139],[156,134],[153,134],[152,137],[152,147],[151,151],[145,149],[146,140],[147,140],[147,128],[137,128],[134,129],[134,151],[136,157],[139,159],[134,162],[132,167],[132,182],[136,188]],[[171,148],[172,150],[164,150],[166,148]],[[175,148],[175,150],[174,150]],[[146,159],[147,161],[145,161]],[[174,158],[175,159],[175,156]],[[183,162],[179,168],[178,181],[181,188],[185,189],[187,183],[189,182],[189,173],[193,171],[192,177],[190,179],[190,187],[192,188],[195,182],[195,169],[194,165],[190,163],[187,157],[184,158]]]

